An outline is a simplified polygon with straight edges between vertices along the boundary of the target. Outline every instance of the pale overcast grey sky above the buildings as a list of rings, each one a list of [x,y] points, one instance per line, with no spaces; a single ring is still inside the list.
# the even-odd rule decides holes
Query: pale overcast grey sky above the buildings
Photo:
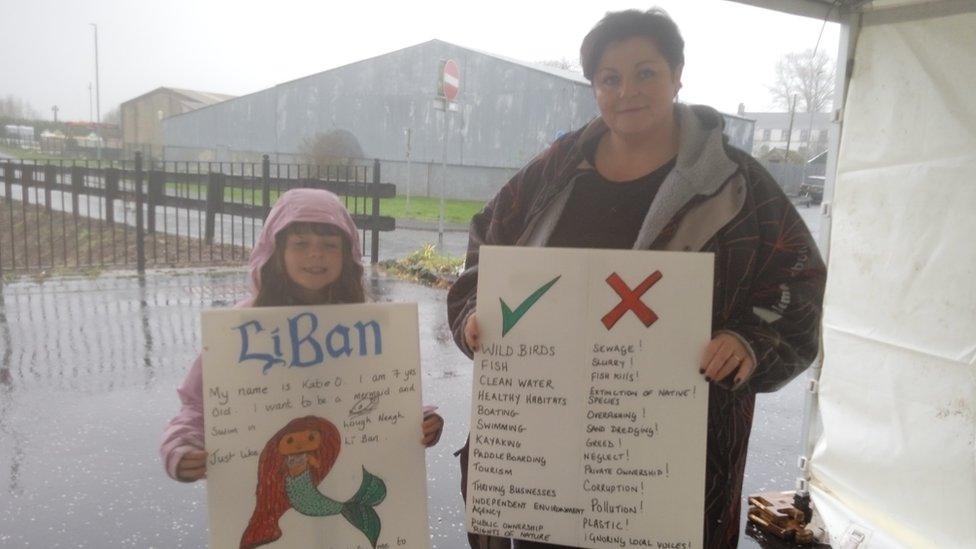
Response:
[[[580,40],[606,11],[651,5],[0,0],[0,96],[25,99],[45,118],[58,105],[59,118],[87,120],[95,80],[89,23],[98,24],[104,114],[159,86],[244,95],[433,38],[525,61],[576,59]],[[682,99],[728,112],[739,102],[766,110],[776,60],[813,48],[822,26],[725,0],[656,5],[685,37]],[[837,39],[838,26],[828,23],[820,47],[831,57]]]

